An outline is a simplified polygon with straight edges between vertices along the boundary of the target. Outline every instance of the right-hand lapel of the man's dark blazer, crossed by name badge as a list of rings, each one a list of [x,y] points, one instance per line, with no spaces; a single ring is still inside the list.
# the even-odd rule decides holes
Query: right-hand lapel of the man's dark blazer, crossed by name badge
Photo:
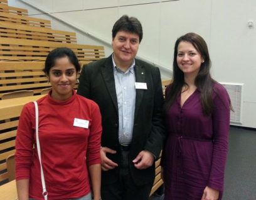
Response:
[[[145,83],[145,71],[143,66],[141,66],[140,64],[136,64],[134,69],[135,69],[136,82]],[[134,119],[136,119],[136,116],[138,114],[138,110],[139,110],[139,106],[141,105],[143,94],[144,94],[144,89],[136,89]]]

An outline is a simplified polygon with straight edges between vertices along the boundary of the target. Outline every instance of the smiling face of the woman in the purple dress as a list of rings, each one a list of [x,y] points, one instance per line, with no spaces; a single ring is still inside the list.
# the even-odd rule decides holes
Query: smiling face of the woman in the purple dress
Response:
[[[179,42],[177,64],[183,71],[184,76],[194,76],[200,71],[201,64],[204,62],[201,54],[190,42]]]

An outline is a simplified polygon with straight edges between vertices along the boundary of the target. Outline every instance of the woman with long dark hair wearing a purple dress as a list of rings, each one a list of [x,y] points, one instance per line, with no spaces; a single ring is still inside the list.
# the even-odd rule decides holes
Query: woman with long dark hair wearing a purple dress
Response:
[[[230,98],[211,78],[210,66],[201,36],[179,37],[164,109],[168,136],[161,166],[166,200],[215,200],[223,193]]]

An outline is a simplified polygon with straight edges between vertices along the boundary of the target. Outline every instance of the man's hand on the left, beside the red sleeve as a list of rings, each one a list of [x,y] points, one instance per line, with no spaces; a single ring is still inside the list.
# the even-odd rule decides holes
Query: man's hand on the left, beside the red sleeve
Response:
[[[114,169],[118,166],[117,163],[114,163],[109,158],[107,158],[107,155],[106,155],[107,153],[115,154],[117,152],[110,148],[100,149],[101,168],[103,171],[108,171],[109,169]]]

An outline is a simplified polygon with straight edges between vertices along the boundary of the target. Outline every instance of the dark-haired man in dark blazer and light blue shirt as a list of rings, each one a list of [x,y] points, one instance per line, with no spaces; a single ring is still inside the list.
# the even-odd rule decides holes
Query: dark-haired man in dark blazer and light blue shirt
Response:
[[[102,199],[149,199],[154,161],[164,138],[159,69],[136,59],[141,22],[122,16],[112,29],[113,54],[83,66],[77,93],[102,114]],[[90,119],[87,119],[90,121]]]

